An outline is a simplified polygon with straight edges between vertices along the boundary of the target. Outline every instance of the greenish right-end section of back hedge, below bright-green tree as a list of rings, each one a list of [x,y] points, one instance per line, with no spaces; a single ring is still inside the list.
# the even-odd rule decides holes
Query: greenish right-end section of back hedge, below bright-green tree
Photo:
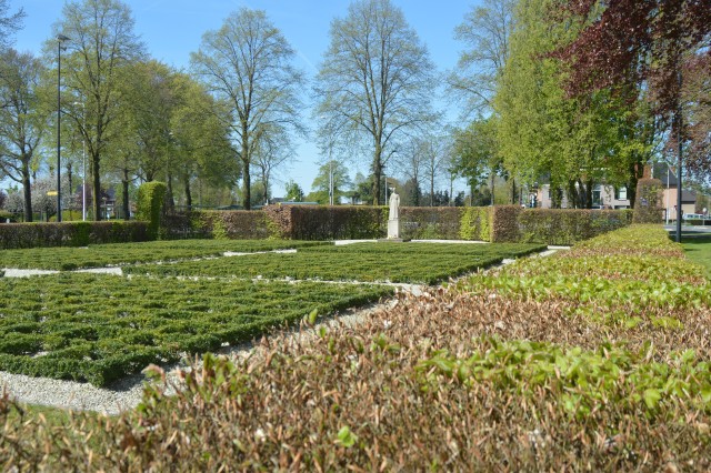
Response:
[[[525,209],[518,214],[521,242],[573,244],[631,223],[630,210]]]

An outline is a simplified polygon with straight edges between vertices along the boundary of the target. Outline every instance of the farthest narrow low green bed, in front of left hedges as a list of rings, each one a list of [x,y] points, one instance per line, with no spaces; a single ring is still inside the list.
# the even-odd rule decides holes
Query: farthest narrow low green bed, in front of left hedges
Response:
[[[332,244],[293,240],[171,240],[96,244],[83,248],[32,248],[0,251],[0,268],[76,270],[153,261],[218,256],[224,252],[256,252]]]

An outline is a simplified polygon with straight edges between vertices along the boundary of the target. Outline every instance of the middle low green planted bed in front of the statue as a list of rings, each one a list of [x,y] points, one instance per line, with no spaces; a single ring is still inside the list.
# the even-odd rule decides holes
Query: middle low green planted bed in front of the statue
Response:
[[[453,244],[362,243],[321,246],[293,254],[253,254],[176,264],[126,268],[127,273],[157,276],[266,278],[433,284],[541,249]]]

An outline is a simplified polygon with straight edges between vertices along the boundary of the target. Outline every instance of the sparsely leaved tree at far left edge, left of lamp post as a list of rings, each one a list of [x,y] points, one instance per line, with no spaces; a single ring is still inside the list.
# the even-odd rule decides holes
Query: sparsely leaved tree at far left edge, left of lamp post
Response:
[[[22,184],[26,222],[32,221],[31,164],[49,114],[37,93],[42,70],[30,53],[0,54],[0,171]]]

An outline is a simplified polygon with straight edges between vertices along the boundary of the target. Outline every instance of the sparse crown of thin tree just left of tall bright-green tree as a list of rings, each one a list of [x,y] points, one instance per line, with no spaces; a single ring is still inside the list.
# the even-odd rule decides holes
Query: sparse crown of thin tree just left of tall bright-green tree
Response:
[[[447,82],[453,97],[465,103],[465,114],[491,110],[497,82],[509,57],[515,0],[484,0],[454,30],[467,49]]]

